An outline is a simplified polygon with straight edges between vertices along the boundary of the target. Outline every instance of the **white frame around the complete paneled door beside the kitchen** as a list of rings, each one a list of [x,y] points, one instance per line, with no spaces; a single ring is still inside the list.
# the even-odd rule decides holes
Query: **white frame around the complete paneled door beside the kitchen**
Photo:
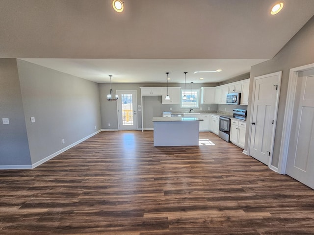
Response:
[[[268,163],[268,167],[272,169],[273,171],[277,172],[277,167],[273,166],[272,159],[273,159],[273,150],[274,150],[274,140],[275,140],[275,130],[276,130],[276,124],[277,124],[277,113],[278,113],[278,106],[279,106],[279,97],[280,97],[280,88],[281,88],[281,77],[282,77],[282,71],[278,72],[273,72],[273,73],[268,73],[262,76],[257,76],[254,77],[253,80],[253,89],[252,89],[252,97],[251,97],[251,109],[252,111],[250,112],[250,121],[252,122],[253,119],[253,112],[254,112],[254,99],[255,99],[255,86],[256,86],[256,81],[258,79],[270,77],[270,76],[279,76],[279,84],[278,84],[278,94],[276,97],[276,103],[275,103],[275,112],[274,112],[274,124],[271,132],[271,142],[270,142],[270,159]],[[251,148],[251,137],[252,137],[252,125],[249,123],[249,139],[248,139],[248,144],[247,144],[247,155],[250,156],[250,148]]]

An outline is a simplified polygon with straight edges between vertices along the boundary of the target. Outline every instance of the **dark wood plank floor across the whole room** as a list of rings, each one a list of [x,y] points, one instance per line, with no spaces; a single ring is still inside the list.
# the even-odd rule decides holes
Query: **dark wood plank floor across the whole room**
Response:
[[[314,234],[314,190],[200,137],[215,145],[101,132],[33,170],[2,170],[0,234]]]

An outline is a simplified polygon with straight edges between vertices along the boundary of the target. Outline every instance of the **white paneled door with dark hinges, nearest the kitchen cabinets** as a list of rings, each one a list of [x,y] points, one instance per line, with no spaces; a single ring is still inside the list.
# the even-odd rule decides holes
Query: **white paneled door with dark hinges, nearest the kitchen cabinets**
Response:
[[[270,165],[277,118],[281,71],[254,78],[249,155]]]

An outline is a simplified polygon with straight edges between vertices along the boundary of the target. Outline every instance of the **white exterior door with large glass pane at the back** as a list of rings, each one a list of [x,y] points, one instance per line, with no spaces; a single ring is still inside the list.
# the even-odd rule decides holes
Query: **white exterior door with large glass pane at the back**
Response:
[[[137,130],[137,95],[136,90],[117,91],[118,128],[119,130]]]

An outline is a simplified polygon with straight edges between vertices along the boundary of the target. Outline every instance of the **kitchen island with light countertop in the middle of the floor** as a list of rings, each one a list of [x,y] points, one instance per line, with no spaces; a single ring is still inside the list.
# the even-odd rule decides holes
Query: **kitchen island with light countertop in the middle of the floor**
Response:
[[[200,118],[154,117],[154,146],[198,146]]]

